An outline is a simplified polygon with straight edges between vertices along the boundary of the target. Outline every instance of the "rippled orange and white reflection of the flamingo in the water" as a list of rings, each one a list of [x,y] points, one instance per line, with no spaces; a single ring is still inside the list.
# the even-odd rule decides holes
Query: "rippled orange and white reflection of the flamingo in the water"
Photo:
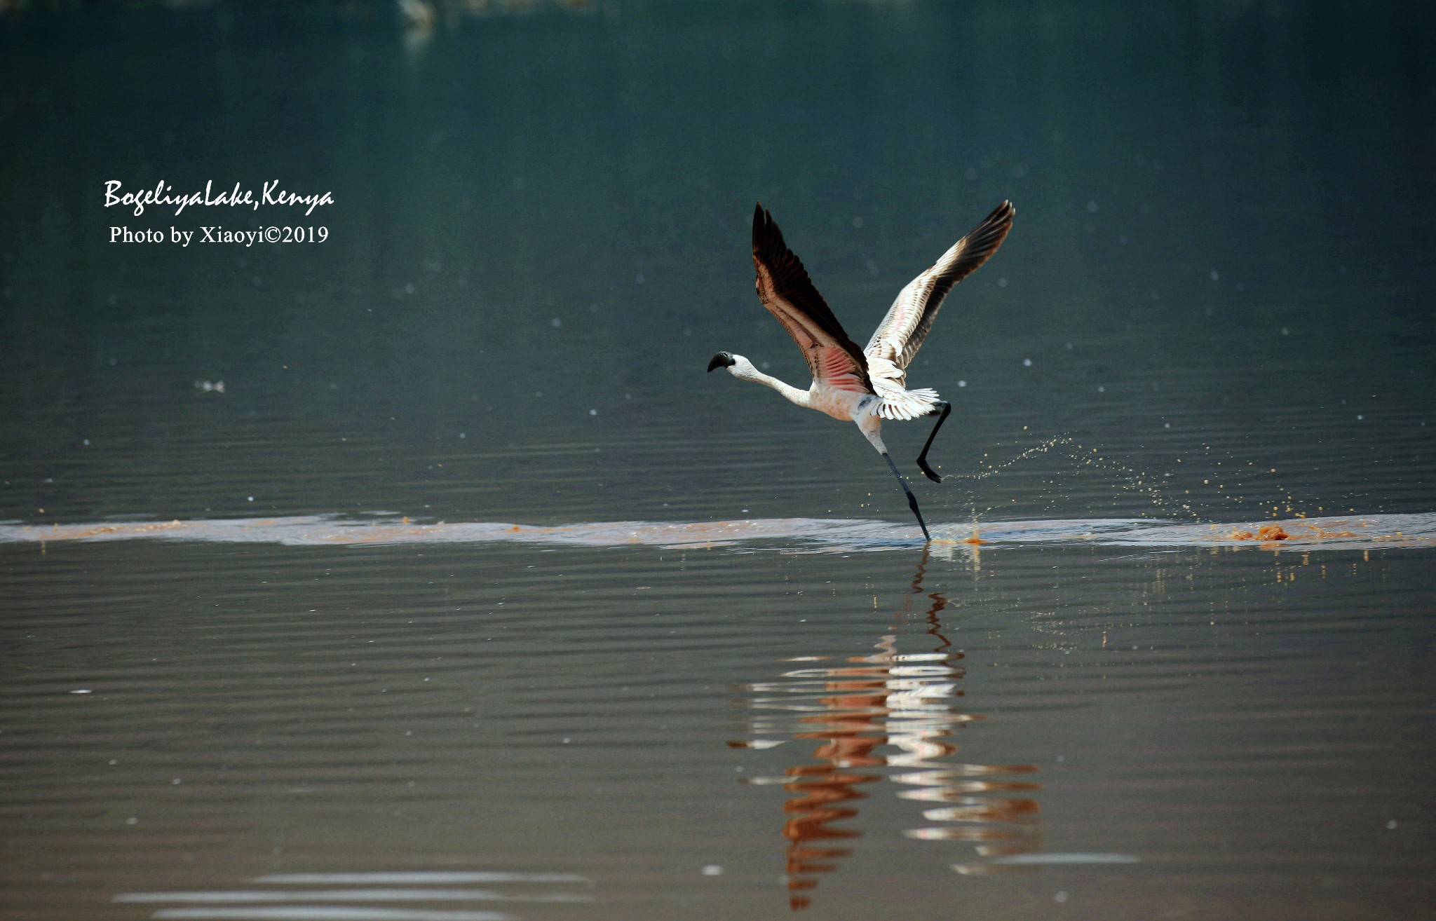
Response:
[[[862,829],[836,823],[857,818],[857,803],[869,796],[863,788],[883,779],[903,788],[898,799],[928,805],[922,816],[929,825],[905,831],[908,838],[974,845],[976,859],[954,864],[959,874],[1030,871],[1002,858],[1041,849],[1038,805],[1031,799],[1040,785],[1011,779],[1035,766],[949,760],[958,752],[954,732],[984,717],[958,706],[964,654],[952,648],[939,618],[952,603],[942,592],[923,594],[926,564],[925,552],[893,633],[873,644],[876,653],[794,657],[787,661],[843,664],[804,666],[777,681],[740,687],[751,694],[744,706],[760,716],[750,723],[752,737],[729,746],[768,749],[788,740],[781,736],[817,742],[811,763],[744,780],[781,785],[791,793],[783,803],[783,836],[793,910],[807,908],[820,875],[837,871],[852,852],[836,842],[859,838]],[[925,623],[913,618],[916,600],[928,603]],[[931,651],[899,650],[915,628]]]

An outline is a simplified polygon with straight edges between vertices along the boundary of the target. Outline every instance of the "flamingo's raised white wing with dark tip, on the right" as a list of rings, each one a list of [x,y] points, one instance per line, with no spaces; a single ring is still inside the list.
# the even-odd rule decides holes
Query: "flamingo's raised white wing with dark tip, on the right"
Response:
[[[997,252],[1007,238],[1007,231],[1012,230],[1014,214],[1017,209],[1012,202],[1004,201],[972,232],[952,244],[952,248],[928,271],[898,293],[893,306],[887,308],[887,316],[877,324],[877,331],[863,350],[873,366],[873,374],[882,374],[899,387],[906,386],[908,364],[922,347],[922,340],[928,337],[942,300],[952,285],[971,275]]]

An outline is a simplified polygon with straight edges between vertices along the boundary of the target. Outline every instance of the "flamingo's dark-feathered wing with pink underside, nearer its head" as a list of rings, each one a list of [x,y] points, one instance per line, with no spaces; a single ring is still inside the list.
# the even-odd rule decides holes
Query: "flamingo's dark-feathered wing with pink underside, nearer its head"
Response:
[[[803,350],[813,380],[839,390],[873,393],[863,351],[813,287],[761,202],[752,212],[752,265],[758,300]]]

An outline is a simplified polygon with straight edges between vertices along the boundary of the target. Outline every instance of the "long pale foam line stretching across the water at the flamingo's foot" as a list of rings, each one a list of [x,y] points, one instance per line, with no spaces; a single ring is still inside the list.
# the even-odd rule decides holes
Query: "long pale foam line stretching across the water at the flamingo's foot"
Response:
[[[1070,518],[945,524],[935,547],[1099,544],[1190,548],[1370,549],[1436,547],[1436,512],[1344,515],[1259,522],[1178,524],[1147,518]],[[0,525],[0,544],[55,541],[188,541],[293,547],[386,544],[543,544],[573,547],[737,547],[785,544],[811,551],[880,551],[920,544],[915,525],[846,518],[738,521],[606,521],[567,525],[418,524],[405,518],[220,518],[67,525]]]

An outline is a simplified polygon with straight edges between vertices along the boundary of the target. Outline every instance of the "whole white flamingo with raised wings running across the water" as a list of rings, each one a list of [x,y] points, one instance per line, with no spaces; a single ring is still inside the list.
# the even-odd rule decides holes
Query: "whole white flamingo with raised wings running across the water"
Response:
[[[918,466],[932,482],[942,482],[928,466],[928,449],[952,412],[952,405],[939,397],[936,390],[909,390],[908,366],[928,337],[948,291],[997,252],[1007,231],[1012,228],[1015,212],[1012,202],[1004,201],[972,232],[952,244],[928,271],[909,281],[877,324],[867,347],[859,349],[813,287],[803,263],[783,242],[783,231],[773,215],[758,202],[752,212],[752,264],[758,270],[758,300],[803,350],[813,383],[807,390],[798,390],[729,351],[715,354],[708,370],[727,367],[740,380],[773,387],[790,403],[816,409],[841,422],[856,422],[857,430],[877,449],[898,478],[898,485],[908,495],[908,506],[918,516],[922,537],[931,541],[928,524],[918,511],[918,499],[887,455],[880,429],[883,419],[938,416],[922,453],[918,455]]]

